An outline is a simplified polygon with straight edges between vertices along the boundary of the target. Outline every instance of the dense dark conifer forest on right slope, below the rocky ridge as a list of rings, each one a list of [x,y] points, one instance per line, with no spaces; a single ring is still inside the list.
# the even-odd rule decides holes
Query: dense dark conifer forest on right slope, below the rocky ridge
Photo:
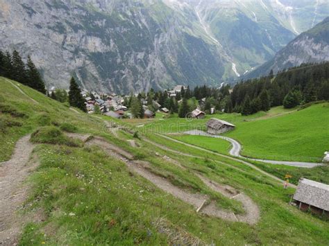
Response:
[[[329,62],[302,64],[273,76],[239,82],[230,95],[233,112],[253,114],[270,107],[296,107],[329,100]]]

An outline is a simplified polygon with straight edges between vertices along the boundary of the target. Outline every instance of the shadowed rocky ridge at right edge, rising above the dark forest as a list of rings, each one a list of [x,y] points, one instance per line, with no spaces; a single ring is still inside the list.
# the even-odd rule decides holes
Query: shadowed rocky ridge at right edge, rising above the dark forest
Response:
[[[329,61],[329,17],[310,30],[298,35],[285,48],[281,49],[273,59],[248,73],[246,78],[267,75],[271,69],[276,73],[303,63],[324,61]]]

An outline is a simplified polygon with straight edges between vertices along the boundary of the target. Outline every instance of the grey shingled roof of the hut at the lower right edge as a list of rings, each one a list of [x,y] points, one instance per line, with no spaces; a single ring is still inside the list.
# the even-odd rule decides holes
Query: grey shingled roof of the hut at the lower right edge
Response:
[[[329,185],[310,179],[300,179],[294,200],[329,211]]]

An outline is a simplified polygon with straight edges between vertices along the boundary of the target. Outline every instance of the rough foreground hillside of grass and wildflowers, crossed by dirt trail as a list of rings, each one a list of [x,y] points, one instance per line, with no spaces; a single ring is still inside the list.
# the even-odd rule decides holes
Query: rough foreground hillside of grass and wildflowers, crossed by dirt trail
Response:
[[[40,166],[28,179],[31,191],[23,212],[33,215],[35,211],[42,211],[43,220],[24,227],[21,245],[182,243],[175,241],[172,235],[178,235],[182,241],[199,239],[205,244],[216,245],[328,245],[328,222],[289,206],[294,189],[283,189],[282,184],[249,166],[171,143],[154,134],[146,136],[200,158],[178,155],[139,139],[135,141],[141,147],[133,148],[127,141],[133,139],[133,134],[119,131],[115,137],[115,134],[104,129],[99,118],[73,112],[65,105],[19,85],[39,102],[32,103],[8,81],[0,78],[0,83],[1,110],[3,105],[11,107],[6,112],[1,111],[1,122],[6,119],[7,123],[21,123],[20,126],[6,123],[1,128],[12,136],[1,133],[1,140],[6,139],[0,141],[1,159],[10,158],[12,146],[19,137],[40,127],[42,130],[39,133],[42,134],[58,132],[60,128],[73,129],[104,137],[133,154],[135,159],[149,161],[151,172],[185,191],[209,195],[217,202],[217,207],[243,213],[239,202],[210,190],[194,172],[246,193],[260,208],[260,221],[253,226],[204,216],[196,213],[189,204],[131,173],[122,161],[106,155],[97,146],[67,146],[69,143],[65,138],[59,137],[60,140],[56,140],[58,144],[40,144],[33,151]],[[13,112],[24,112],[25,116],[15,116]],[[68,124],[76,126],[76,129],[68,127]],[[140,132],[140,136],[144,134]],[[33,139],[40,141],[41,137],[36,134]],[[14,143],[7,153],[3,150],[9,140]],[[175,159],[186,170],[171,164],[163,156]],[[223,164],[215,161],[222,161]]]

